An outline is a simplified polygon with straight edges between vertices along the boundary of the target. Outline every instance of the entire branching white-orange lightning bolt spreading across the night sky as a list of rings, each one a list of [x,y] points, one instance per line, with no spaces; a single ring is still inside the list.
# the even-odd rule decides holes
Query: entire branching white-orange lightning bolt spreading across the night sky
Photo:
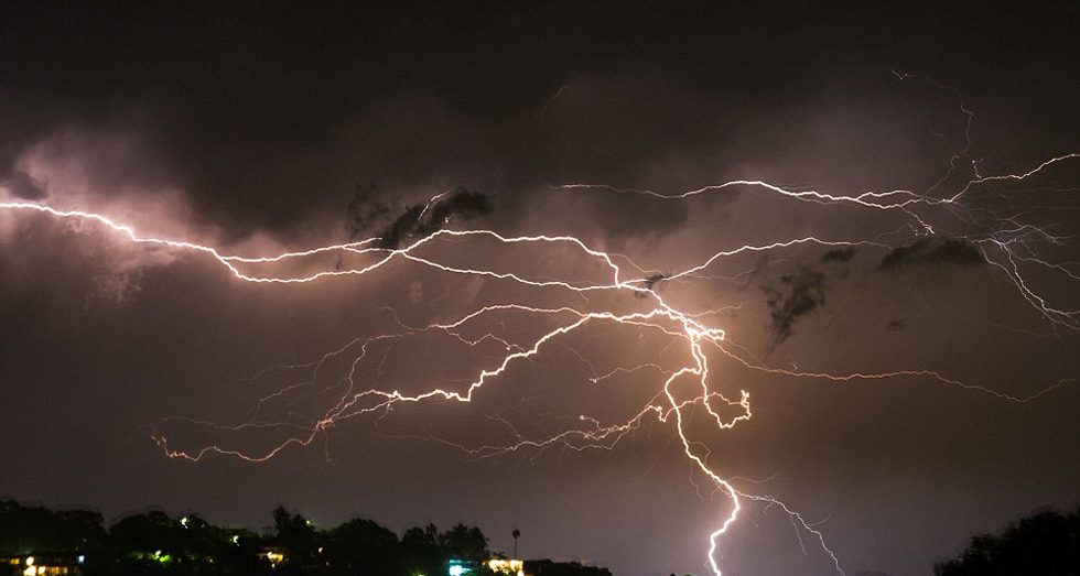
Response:
[[[903,79],[906,75],[901,76],[897,74],[897,76]],[[968,115],[968,126],[970,127],[971,112],[966,108],[962,108],[962,110]],[[970,142],[965,140],[965,149],[961,155],[968,153],[966,146],[970,146]],[[1016,183],[1023,186],[1025,183],[1038,178],[1055,167],[1071,164],[1080,164],[1080,153],[1052,157],[1017,174],[983,175],[976,170],[974,177],[970,178],[962,188],[951,195],[933,195],[935,189],[941,187],[946,178],[942,178],[941,182],[938,182],[925,193],[896,189],[887,192],[862,192],[846,195],[813,189],[795,189],[755,180],[731,181],[677,194],[662,194],[647,189],[624,189],[591,184],[554,186],[553,193],[635,194],[652,197],[657,202],[687,202],[698,196],[723,194],[725,191],[738,188],[749,189],[782,199],[813,203],[820,207],[843,206],[857,210],[895,213],[904,218],[906,222],[903,225],[904,228],[912,230],[916,235],[922,237],[931,237],[932,235],[949,230],[950,237],[962,240],[966,246],[973,247],[979,252],[980,258],[994,267],[995,270],[998,270],[1011,282],[1015,293],[1035,313],[1040,315],[1050,327],[1056,330],[1080,330],[1080,309],[1069,309],[1069,304],[1052,302],[1050,296],[1041,293],[1028,280],[1028,274],[1025,272],[1028,268],[1034,267],[1041,269],[1043,272],[1057,274],[1070,281],[1080,280],[1080,270],[1077,269],[1077,262],[1055,260],[1043,256],[1039,250],[1039,247],[1044,244],[1076,242],[1077,239],[1059,230],[1041,228],[1026,221],[1025,215],[1030,209],[1024,206],[1016,207],[1012,213],[1004,213],[997,209],[978,207],[965,202],[966,197],[981,186],[1002,182]],[[954,165],[955,161],[950,163],[950,172]],[[443,193],[432,198],[424,206],[421,217],[445,194]],[[529,437],[519,433],[512,423],[493,416],[495,420],[498,420],[500,425],[509,431],[512,438],[511,442],[474,445],[439,437],[431,439],[454,446],[474,457],[493,457],[514,450],[544,450],[557,446],[574,450],[588,448],[611,449],[627,435],[639,430],[646,421],[652,420],[658,423],[669,424],[679,437],[685,458],[701,475],[712,482],[716,490],[726,495],[731,502],[730,510],[723,515],[720,526],[709,536],[708,565],[717,576],[722,574],[721,543],[723,535],[738,520],[746,501],[756,501],[781,509],[790,518],[795,531],[799,536],[800,544],[804,535],[810,535],[824,554],[831,558],[835,570],[843,574],[843,569],[841,568],[840,559],[825,544],[824,534],[816,528],[816,524],[808,522],[797,511],[771,496],[741,489],[737,486],[739,483],[737,478],[725,477],[721,467],[710,460],[711,454],[708,445],[693,437],[688,424],[691,412],[708,416],[710,425],[717,431],[732,428],[752,417],[752,404],[748,392],[739,390],[737,394],[731,394],[721,391],[721,383],[716,381],[717,379],[711,372],[711,352],[717,352],[731,358],[752,370],[760,370],[792,378],[813,378],[842,382],[895,377],[917,377],[980,393],[992,394],[997,399],[1013,402],[1027,402],[1061,385],[1074,383],[1074,380],[1063,379],[1059,382],[1046,383],[1041,390],[1030,394],[1014,394],[998,391],[990,385],[983,385],[978,382],[968,382],[952,378],[924,367],[903,367],[874,373],[864,371],[829,373],[776,368],[755,358],[754,355],[749,354],[738,344],[730,341],[727,332],[723,327],[710,325],[705,319],[710,316],[709,312],[685,308],[677,302],[678,298],[662,294],[655,286],[657,282],[673,283],[694,280],[706,274],[711,268],[726,259],[792,247],[812,246],[822,249],[858,248],[877,250],[885,253],[900,248],[900,246],[896,246],[894,241],[889,240],[892,235],[898,233],[896,230],[879,231],[879,236],[870,239],[802,236],[782,238],[769,243],[746,244],[733,249],[716,250],[698,263],[691,263],[679,270],[656,276],[647,273],[645,268],[637,265],[627,256],[596,248],[582,238],[566,235],[509,236],[493,229],[443,228],[426,236],[411,239],[400,247],[381,246],[379,243],[380,239],[372,237],[360,241],[327,244],[298,251],[285,251],[272,256],[240,256],[227,253],[220,248],[204,243],[144,235],[136,230],[132,226],[117,221],[105,214],[65,209],[33,202],[3,202],[0,203],[0,210],[15,215],[41,214],[60,219],[93,222],[102,230],[120,235],[121,238],[130,242],[152,244],[176,251],[202,253],[217,262],[237,281],[268,284],[270,286],[267,290],[272,290],[272,285],[277,284],[304,284],[332,281],[333,278],[341,280],[347,276],[374,275],[387,269],[391,263],[408,262],[438,273],[483,278],[511,283],[529,290],[550,291],[560,295],[570,296],[576,303],[575,305],[548,306],[530,305],[529,303],[522,302],[504,302],[478,306],[450,322],[431,323],[424,326],[410,326],[406,322],[398,319],[396,311],[386,309],[385,312],[393,316],[393,325],[397,332],[357,338],[346,343],[338,349],[326,352],[320,360],[310,365],[302,367],[281,367],[283,370],[300,369],[310,374],[310,378],[264,395],[259,401],[255,417],[249,422],[236,425],[222,425],[208,422],[186,421],[198,427],[226,433],[242,433],[260,428],[271,428],[279,433],[285,431],[287,438],[284,441],[278,442],[269,448],[261,450],[237,448],[227,444],[207,444],[198,449],[187,449],[175,447],[166,432],[155,431],[153,439],[165,454],[175,458],[199,460],[208,454],[219,454],[235,456],[245,460],[262,461],[274,457],[290,446],[310,445],[321,434],[326,434],[328,428],[347,419],[370,415],[372,419],[378,420],[393,410],[404,407],[409,404],[429,401],[469,403],[485,388],[493,385],[494,381],[500,378],[506,378],[519,365],[536,360],[552,347],[568,346],[561,339],[586,329],[604,326],[633,328],[662,338],[669,343],[668,346],[680,346],[684,352],[685,362],[683,366],[674,367],[666,366],[663,362],[654,358],[645,358],[637,359],[625,366],[617,366],[613,369],[600,369],[591,363],[586,355],[573,350],[577,359],[590,367],[592,378],[588,380],[593,384],[615,378],[617,374],[637,371],[656,372],[659,374],[655,393],[652,393],[650,400],[626,420],[605,422],[602,417],[583,413],[580,414],[577,420],[579,424],[575,427],[568,427],[544,437]],[[510,267],[499,268],[497,264],[462,264],[456,261],[446,261],[438,252],[433,254],[429,250],[432,247],[439,247],[447,242],[474,241],[493,242],[495,246],[504,249],[528,246],[541,249],[558,248],[563,251],[560,253],[566,253],[569,250],[571,256],[566,256],[565,258],[588,262],[595,270],[602,272],[592,273],[584,278],[571,279],[530,275]],[[358,259],[359,263],[355,265],[326,267],[320,260],[326,256],[347,256]],[[281,273],[274,268],[278,264],[290,262],[298,263],[298,268],[290,273]],[[622,304],[617,306],[605,306],[609,302],[616,302],[614,297],[620,295],[633,297],[618,301]],[[608,296],[612,297],[608,298]],[[514,336],[500,335],[495,332],[484,332],[483,329],[479,330],[480,334],[478,336],[467,335],[469,327],[479,320],[495,318],[499,322],[511,322],[515,316],[533,319],[543,318],[552,323],[554,327],[529,338],[515,338]],[[393,346],[396,341],[421,334],[446,336],[460,345],[469,348],[494,346],[500,349],[500,354],[493,355],[488,352],[490,359],[486,360],[484,366],[475,367],[473,371],[474,376],[467,382],[457,382],[457,385],[454,387],[445,387],[441,382],[432,382],[428,389],[420,392],[403,391],[392,383],[389,385],[379,385],[364,374],[367,366],[365,362],[376,362],[381,366],[382,362],[388,361],[389,347]],[[302,393],[305,390],[314,389],[322,367],[332,360],[336,361],[341,359],[348,359],[347,363],[349,368],[347,373],[342,379],[339,388],[331,389],[337,390],[337,392],[333,394],[333,400],[328,403],[328,406],[322,409],[317,416],[307,422],[288,420],[273,422],[264,420],[260,414],[263,404],[272,403],[295,392]]]

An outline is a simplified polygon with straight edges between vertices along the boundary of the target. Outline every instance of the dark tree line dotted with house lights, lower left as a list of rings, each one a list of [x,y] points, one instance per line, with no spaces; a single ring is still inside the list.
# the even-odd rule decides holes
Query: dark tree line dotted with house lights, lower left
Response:
[[[318,530],[278,507],[263,534],[161,511],[126,517],[106,531],[97,512],[0,502],[0,557],[17,559],[0,562],[0,576],[21,574],[19,559],[29,555],[77,562],[86,576],[442,576],[451,558],[483,566],[492,557],[480,529],[464,524],[445,532],[434,524],[411,528],[399,541],[371,520]]]

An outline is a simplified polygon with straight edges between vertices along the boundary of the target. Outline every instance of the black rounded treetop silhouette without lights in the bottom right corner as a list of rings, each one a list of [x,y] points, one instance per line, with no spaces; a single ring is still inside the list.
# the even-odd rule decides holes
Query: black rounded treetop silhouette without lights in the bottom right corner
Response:
[[[980,534],[960,556],[933,566],[937,576],[1080,576],[1080,507],[1043,510],[1000,535]]]

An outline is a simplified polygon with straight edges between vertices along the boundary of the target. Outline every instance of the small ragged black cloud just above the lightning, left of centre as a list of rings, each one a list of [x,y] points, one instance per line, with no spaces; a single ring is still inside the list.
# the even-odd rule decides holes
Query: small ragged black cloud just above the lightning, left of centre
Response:
[[[409,238],[424,237],[443,229],[452,220],[467,221],[492,214],[492,199],[478,192],[457,187],[429,204],[413,204],[379,235],[381,248],[398,248]],[[377,208],[377,211],[380,208]],[[353,215],[353,210],[349,210]],[[352,220],[350,220],[352,221]]]

